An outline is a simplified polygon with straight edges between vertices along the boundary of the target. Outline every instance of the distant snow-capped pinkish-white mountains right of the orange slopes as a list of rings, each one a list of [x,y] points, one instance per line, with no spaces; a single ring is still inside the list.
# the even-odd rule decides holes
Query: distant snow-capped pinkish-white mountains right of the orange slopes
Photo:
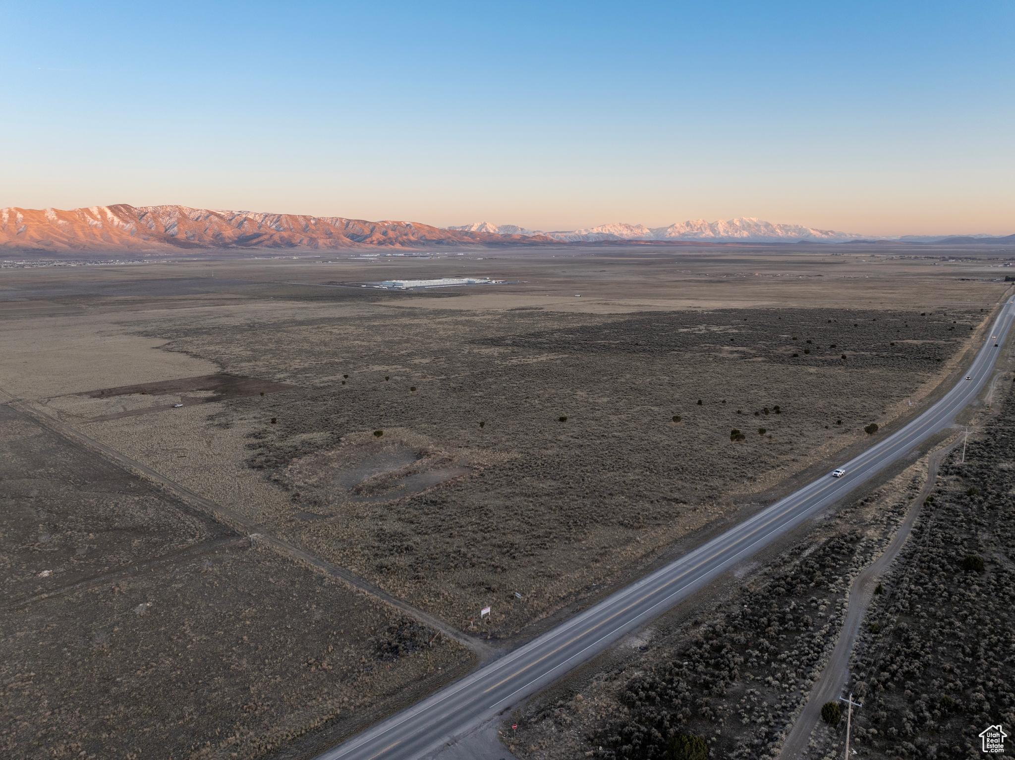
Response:
[[[588,229],[543,231],[527,229],[515,224],[490,224],[478,222],[448,229],[481,231],[500,234],[536,235],[543,234],[556,240],[599,241],[599,240],[740,240],[744,243],[777,243],[786,240],[819,240],[822,243],[845,243],[864,239],[856,232],[837,232],[831,229],[803,227],[799,224],[772,224],[753,217],[740,217],[729,221],[705,221],[696,219],[670,224],[667,227],[647,227],[644,224],[600,224]]]

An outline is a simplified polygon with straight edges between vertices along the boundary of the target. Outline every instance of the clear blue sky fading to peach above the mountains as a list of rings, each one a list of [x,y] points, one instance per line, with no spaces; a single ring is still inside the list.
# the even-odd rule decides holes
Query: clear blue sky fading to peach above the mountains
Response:
[[[5,6],[0,206],[1015,232],[1015,2]]]

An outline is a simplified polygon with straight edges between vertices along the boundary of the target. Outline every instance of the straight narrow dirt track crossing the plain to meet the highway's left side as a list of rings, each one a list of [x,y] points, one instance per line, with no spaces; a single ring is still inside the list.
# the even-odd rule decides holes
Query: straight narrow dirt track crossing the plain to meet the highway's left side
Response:
[[[342,567],[338,567],[337,565],[333,565],[330,562],[322,560],[318,557],[315,557],[314,555],[309,554],[308,552],[304,552],[303,550],[295,546],[292,546],[291,544],[282,541],[281,539],[278,539],[268,533],[265,533],[263,528],[251,522],[247,517],[240,514],[239,512],[223,507],[219,504],[216,504],[206,498],[199,496],[198,494],[185,488],[184,486],[174,483],[173,481],[158,474],[154,470],[145,467],[139,462],[135,462],[129,457],[125,457],[124,455],[120,454],[114,448],[111,448],[107,445],[99,443],[98,441],[88,437],[87,435],[84,435],[83,433],[75,430],[70,425],[67,425],[66,423],[60,420],[54,419],[50,415],[45,414],[44,412],[41,412],[38,409],[35,409],[27,404],[24,404],[23,402],[15,400],[6,391],[0,390],[0,393],[3,393],[5,396],[11,399],[7,403],[7,405],[10,408],[22,413],[26,417],[33,420],[37,424],[46,427],[54,434],[59,435],[65,440],[69,440],[73,445],[75,446],[84,445],[88,448],[98,451],[99,453],[105,455],[108,459],[113,460],[114,462],[119,464],[121,467],[126,467],[127,470],[129,471],[132,470],[135,473],[138,473],[143,477],[147,478],[148,480],[154,481],[155,483],[158,483],[161,486],[172,490],[178,496],[184,499],[184,501],[191,503],[192,505],[196,506],[202,511],[212,515],[216,521],[224,525],[227,525],[238,531],[241,531],[242,533],[246,533],[252,541],[261,541],[264,542],[265,544],[269,544],[277,551],[281,552],[282,554],[290,556],[292,559],[314,565],[315,567],[324,570],[329,575],[340,577],[346,582],[348,582],[350,585],[359,589],[361,591],[364,591],[367,594],[370,594],[371,596],[383,600],[384,602],[387,602],[388,604],[401,610],[405,614],[414,617],[416,620],[425,623],[434,630],[441,631],[444,635],[448,636],[449,638],[454,639],[455,641],[458,641],[459,643],[465,645],[473,653],[476,654],[480,663],[488,660],[491,657],[492,649],[482,641],[478,641],[469,636],[464,636],[459,631],[445,625],[442,621],[437,620],[433,616],[423,612],[422,610],[417,610],[413,606],[406,604],[401,600],[395,599],[394,597],[383,592],[381,589],[375,586],[373,583],[369,583],[363,580],[362,578],[353,575],[348,570]]]

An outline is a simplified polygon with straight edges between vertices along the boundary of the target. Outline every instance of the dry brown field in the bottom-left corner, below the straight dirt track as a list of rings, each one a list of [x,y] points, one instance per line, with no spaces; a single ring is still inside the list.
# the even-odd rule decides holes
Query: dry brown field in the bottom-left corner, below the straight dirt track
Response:
[[[6,757],[256,757],[471,662],[0,406]]]

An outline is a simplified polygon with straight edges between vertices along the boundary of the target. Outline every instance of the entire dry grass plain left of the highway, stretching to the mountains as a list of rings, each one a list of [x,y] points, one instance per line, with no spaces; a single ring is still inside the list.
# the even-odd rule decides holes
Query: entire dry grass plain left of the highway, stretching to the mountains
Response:
[[[992,252],[834,253],[9,268],[0,391],[453,627],[519,640],[918,409],[1005,292]],[[324,284],[461,274],[515,282]],[[254,756],[471,662],[90,452],[21,464],[40,434],[6,441],[0,494],[8,746],[88,736],[73,754],[120,756],[154,732],[165,757]]]

